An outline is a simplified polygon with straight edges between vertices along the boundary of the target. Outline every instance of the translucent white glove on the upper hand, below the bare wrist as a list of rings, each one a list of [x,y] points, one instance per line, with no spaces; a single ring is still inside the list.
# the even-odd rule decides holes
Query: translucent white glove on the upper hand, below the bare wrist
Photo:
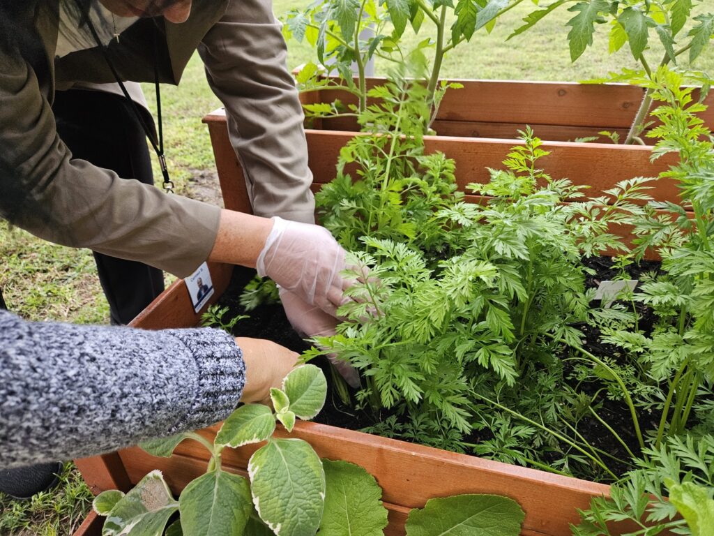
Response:
[[[345,250],[324,227],[272,219],[273,229],[256,262],[258,275],[336,317],[347,287],[340,275]]]

